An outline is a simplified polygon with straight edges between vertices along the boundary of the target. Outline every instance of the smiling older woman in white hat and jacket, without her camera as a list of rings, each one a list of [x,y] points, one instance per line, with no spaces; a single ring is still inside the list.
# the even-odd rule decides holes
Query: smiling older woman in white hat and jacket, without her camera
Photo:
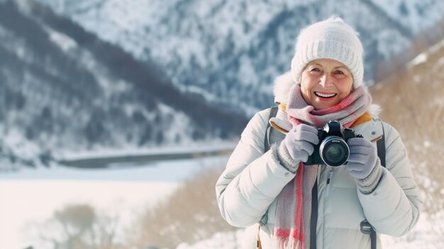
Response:
[[[299,34],[291,79],[275,91],[288,133],[272,129],[265,151],[270,109],[258,112],[216,183],[223,218],[249,227],[243,248],[381,248],[367,232],[402,236],[418,221],[421,198],[406,148],[371,111],[362,54],[357,33],[337,16]],[[347,162],[306,163],[328,121],[360,134],[346,140]]]

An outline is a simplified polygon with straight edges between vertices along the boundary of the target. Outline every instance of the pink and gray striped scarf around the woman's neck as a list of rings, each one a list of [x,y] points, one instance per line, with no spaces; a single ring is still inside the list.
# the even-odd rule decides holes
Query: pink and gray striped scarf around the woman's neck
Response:
[[[360,86],[339,104],[315,110],[302,97],[300,85],[294,84],[287,101],[287,115],[293,126],[306,123],[321,128],[328,121],[337,120],[344,127],[350,127],[365,114],[371,102],[367,89]],[[317,170],[316,165],[304,166],[301,162],[296,177],[278,195],[273,248],[306,248],[305,236],[310,232],[311,189],[316,182]]]

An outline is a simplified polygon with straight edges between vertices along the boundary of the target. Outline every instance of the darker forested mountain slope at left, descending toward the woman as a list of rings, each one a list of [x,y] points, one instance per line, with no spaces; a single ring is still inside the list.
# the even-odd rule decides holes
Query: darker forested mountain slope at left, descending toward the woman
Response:
[[[66,151],[237,138],[247,122],[33,1],[0,1],[0,40],[3,169]]]

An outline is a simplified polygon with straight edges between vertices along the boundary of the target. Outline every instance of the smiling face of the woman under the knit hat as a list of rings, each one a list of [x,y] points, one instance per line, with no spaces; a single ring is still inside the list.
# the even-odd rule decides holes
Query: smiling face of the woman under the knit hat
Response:
[[[316,110],[335,106],[352,89],[353,75],[337,60],[313,60],[301,72],[302,96]]]

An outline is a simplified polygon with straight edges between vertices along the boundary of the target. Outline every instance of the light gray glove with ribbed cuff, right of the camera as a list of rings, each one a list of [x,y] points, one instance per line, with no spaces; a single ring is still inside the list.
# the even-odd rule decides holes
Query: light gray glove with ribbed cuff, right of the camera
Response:
[[[357,187],[364,194],[370,194],[381,179],[381,162],[378,160],[376,147],[365,138],[350,138],[347,169],[355,177]]]

